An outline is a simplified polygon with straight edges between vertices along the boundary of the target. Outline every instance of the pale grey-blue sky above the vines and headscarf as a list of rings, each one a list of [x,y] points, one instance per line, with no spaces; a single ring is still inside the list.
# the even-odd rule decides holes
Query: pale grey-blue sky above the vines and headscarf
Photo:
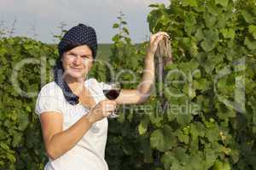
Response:
[[[144,42],[149,36],[147,15],[152,10],[148,5],[171,0],[0,0],[0,20],[3,27],[12,28],[13,36],[35,37],[47,43],[58,42],[61,23],[70,29],[79,23],[96,29],[99,43],[110,43],[116,30],[119,12],[125,14],[132,42]],[[16,20],[16,22],[15,22]],[[1,28],[1,27],[0,27]],[[36,36],[34,36],[36,35]]]

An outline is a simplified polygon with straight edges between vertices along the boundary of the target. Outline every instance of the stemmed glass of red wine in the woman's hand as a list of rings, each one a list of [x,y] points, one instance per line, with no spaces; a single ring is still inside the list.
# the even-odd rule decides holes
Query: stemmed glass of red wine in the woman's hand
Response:
[[[103,84],[103,94],[106,96],[106,98],[110,100],[117,99],[120,94],[120,83],[119,82],[105,82]],[[109,118],[115,118],[118,117],[119,115],[115,114],[116,111],[113,111]]]

